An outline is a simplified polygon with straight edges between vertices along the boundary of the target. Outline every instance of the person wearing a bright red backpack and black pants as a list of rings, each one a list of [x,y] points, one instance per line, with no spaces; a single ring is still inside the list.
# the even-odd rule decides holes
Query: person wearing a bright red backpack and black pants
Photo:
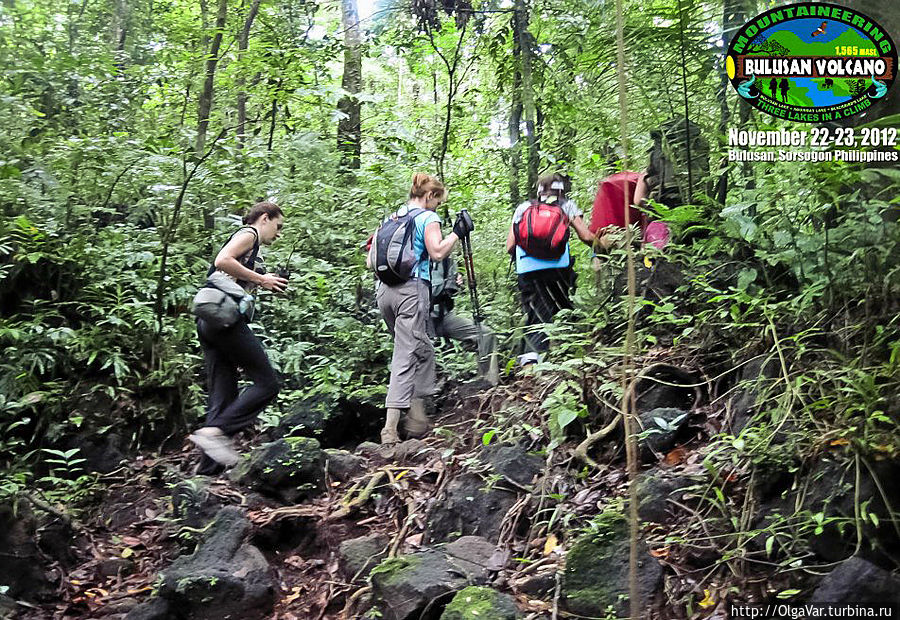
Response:
[[[587,245],[594,241],[581,209],[566,196],[567,186],[568,180],[558,173],[538,179],[537,199],[516,208],[506,236],[506,251],[515,256],[529,328],[550,323],[560,310],[572,308],[576,275],[569,253],[569,227]],[[529,330],[524,345],[519,357],[523,366],[540,361],[540,354],[549,348],[547,335],[540,330]]]

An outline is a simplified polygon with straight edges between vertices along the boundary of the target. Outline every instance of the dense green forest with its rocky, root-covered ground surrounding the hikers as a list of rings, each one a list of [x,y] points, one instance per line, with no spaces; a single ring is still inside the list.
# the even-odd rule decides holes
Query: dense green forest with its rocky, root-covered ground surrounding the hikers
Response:
[[[2,0],[0,616],[900,603],[900,169],[728,160],[731,128],[800,127],[723,69],[778,4]],[[889,2],[842,4],[900,38]],[[573,238],[574,309],[518,368],[515,206],[560,172],[589,214],[688,119],[708,154],[670,153],[664,258]],[[900,127],[900,88],[845,124]],[[415,172],[449,190],[444,234],[474,219],[502,376],[439,343],[436,428],[385,450],[362,248]],[[285,214],[264,260],[289,285],[253,324],[283,385],[236,473],[198,478],[191,300],[260,200]]]

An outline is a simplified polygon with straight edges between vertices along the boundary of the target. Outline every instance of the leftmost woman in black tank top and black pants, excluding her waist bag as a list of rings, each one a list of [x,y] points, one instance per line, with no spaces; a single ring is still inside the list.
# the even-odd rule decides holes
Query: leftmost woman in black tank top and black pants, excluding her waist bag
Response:
[[[219,251],[209,274],[224,272],[248,292],[257,286],[276,293],[284,291],[287,280],[253,270],[260,244],[271,244],[281,233],[281,209],[270,202],[258,203],[244,217],[244,224]],[[280,382],[262,343],[245,319],[224,329],[216,329],[200,319],[197,334],[206,365],[209,403],[203,428],[192,433],[190,440],[203,451],[197,473],[214,475],[237,462],[231,436],[256,421],[259,412],[278,394]],[[238,368],[253,382],[240,393]]]

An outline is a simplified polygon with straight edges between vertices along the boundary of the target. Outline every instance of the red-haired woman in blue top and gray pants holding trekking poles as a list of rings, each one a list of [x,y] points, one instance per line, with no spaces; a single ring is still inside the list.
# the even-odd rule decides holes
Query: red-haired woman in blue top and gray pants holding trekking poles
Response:
[[[408,436],[422,436],[429,429],[423,398],[435,389],[430,261],[443,260],[473,229],[470,219],[458,217],[453,232],[442,236],[435,209],[446,197],[440,180],[413,175],[409,201],[378,227],[366,261],[380,281],[375,298],[394,337],[383,444],[400,441],[397,426],[404,413]]]

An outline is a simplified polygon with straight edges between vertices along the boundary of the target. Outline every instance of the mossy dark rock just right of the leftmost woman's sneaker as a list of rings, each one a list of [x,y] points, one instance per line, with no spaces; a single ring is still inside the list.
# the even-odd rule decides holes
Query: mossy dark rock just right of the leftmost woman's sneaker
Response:
[[[289,437],[250,453],[231,475],[255,491],[296,504],[325,488],[325,453],[308,437]]]

